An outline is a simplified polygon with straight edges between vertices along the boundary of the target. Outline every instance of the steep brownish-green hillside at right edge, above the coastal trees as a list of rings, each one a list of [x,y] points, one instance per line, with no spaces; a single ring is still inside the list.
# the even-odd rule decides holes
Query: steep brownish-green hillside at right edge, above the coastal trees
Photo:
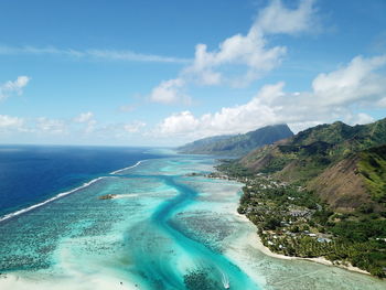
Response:
[[[386,146],[352,154],[329,167],[309,183],[332,208],[375,211],[386,205]]]

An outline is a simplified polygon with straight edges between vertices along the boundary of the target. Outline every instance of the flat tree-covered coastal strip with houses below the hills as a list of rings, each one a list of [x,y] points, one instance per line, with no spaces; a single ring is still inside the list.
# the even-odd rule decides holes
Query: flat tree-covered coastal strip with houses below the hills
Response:
[[[238,178],[243,187],[238,213],[258,226],[262,244],[297,257],[325,257],[386,277],[385,213],[334,213],[313,192],[269,175]]]

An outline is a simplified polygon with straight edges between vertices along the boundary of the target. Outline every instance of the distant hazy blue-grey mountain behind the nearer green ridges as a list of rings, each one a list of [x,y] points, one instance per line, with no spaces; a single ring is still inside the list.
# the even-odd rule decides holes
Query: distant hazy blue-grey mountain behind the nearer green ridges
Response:
[[[244,135],[204,138],[182,146],[178,150],[191,154],[243,155],[250,150],[292,136],[293,133],[287,125],[276,125]]]

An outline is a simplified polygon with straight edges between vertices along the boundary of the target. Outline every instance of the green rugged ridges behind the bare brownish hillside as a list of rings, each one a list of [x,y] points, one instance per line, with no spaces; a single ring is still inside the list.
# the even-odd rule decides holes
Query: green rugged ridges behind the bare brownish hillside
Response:
[[[354,127],[334,122],[301,131],[280,144],[253,151],[240,163],[255,172],[276,173],[282,180],[307,182],[344,158],[385,143],[386,119]]]

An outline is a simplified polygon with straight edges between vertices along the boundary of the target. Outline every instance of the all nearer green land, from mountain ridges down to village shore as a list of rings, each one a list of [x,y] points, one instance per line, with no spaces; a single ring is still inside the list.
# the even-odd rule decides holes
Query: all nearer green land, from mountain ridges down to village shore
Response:
[[[238,212],[272,251],[386,277],[386,119],[317,126],[217,170],[245,183]]]

